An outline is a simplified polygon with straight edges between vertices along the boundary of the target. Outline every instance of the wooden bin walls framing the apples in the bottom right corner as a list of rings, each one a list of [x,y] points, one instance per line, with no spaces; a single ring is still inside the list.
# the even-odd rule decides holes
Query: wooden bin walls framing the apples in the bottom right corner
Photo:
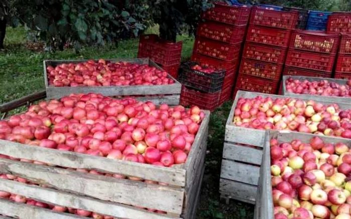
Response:
[[[265,147],[263,148],[263,156],[261,162],[260,177],[257,189],[257,200],[255,205],[254,219],[271,219],[273,214],[273,197],[271,182],[271,157],[269,140],[275,138],[279,143],[290,142],[293,139],[299,139],[304,143],[308,143],[313,134],[296,133],[296,132],[278,132],[267,131],[265,136]],[[338,137],[319,136],[325,143],[343,142],[351,148],[351,140]]]

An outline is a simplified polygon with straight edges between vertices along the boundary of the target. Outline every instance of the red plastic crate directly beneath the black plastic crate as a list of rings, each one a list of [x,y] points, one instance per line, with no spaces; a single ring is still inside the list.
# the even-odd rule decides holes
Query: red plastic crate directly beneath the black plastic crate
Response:
[[[181,105],[197,105],[201,109],[213,111],[218,106],[221,91],[215,93],[204,93],[195,89],[182,86]]]

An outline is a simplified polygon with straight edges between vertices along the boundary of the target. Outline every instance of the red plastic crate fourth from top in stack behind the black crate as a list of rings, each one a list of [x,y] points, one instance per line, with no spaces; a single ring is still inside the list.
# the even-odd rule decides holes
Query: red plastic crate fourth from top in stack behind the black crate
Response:
[[[226,69],[227,72],[233,68],[236,69],[239,63],[239,59],[235,59],[233,61],[223,61],[196,52],[193,53],[192,60],[198,61],[201,63],[201,65],[212,67],[214,69]]]

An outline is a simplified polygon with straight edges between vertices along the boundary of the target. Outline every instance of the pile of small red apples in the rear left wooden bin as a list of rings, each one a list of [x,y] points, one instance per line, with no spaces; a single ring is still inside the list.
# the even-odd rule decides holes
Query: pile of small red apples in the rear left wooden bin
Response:
[[[104,59],[48,66],[49,85],[125,86],[172,84],[167,72],[147,64],[110,62]]]

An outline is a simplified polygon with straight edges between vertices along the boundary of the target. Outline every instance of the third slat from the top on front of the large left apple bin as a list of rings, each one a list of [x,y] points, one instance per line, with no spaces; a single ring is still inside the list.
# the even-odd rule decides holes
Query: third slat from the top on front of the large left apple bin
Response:
[[[79,196],[70,192],[59,191],[37,185],[24,184],[8,179],[0,179],[0,190],[20,194],[45,203],[84,209],[115,217],[130,219],[143,219],[145,217],[152,219],[174,218],[165,214],[152,213],[147,210],[142,210],[124,204],[103,201],[86,196]]]

